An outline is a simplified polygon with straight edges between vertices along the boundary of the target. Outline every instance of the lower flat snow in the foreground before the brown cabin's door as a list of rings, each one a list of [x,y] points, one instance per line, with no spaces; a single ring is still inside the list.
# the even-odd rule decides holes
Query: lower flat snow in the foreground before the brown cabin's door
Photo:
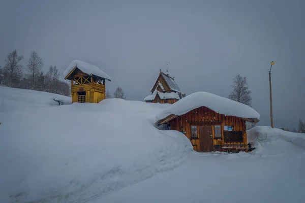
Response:
[[[286,141],[262,149],[263,154],[193,152],[172,171],[92,202],[305,202],[305,150]]]

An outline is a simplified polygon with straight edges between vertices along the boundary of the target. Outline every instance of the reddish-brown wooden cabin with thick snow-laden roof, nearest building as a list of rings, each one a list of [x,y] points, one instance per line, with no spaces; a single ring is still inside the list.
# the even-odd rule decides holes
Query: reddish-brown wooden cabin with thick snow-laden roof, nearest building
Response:
[[[191,94],[161,112],[156,125],[184,133],[195,151],[247,152],[246,121],[258,122],[259,114],[249,106],[219,97],[207,92]]]

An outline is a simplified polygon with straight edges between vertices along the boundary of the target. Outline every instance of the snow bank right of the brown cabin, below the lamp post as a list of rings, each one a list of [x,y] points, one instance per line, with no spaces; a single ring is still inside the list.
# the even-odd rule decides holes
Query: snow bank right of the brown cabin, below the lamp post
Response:
[[[249,143],[259,143],[259,146],[276,141],[285,141],[305,149],[305,133],[296,133],[271,128],[269,126],[256,126],[247,131]]]

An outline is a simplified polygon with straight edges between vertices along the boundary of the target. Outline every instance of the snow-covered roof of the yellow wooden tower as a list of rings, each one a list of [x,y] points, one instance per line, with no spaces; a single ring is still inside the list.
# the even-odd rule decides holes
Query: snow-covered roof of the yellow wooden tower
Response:
[[[81,70],[83,73],[88,75],[95,75],[99,76],[101,78],[105,78],[107,80],[111,80],[110,76],[108,76],[106,73],[104,73],[102,70],[100,70],[97,66],[86,63],[81,60],[74,60],[70,63],[66,71],[64,72],[64,76],[66,77],[75,67],[78,67],[79,70]]]

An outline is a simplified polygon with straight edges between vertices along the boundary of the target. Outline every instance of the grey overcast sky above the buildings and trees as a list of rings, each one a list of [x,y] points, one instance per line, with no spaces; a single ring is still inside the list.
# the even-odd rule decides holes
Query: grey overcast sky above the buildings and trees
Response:
[[[232,78],[248,79],[260,125],[270,125],[272,67],[276,127],[305,121],[305,1],[0,1],[0,65],[14,49],[57,65],[83,60],[143,100],[159,69],[180,89],[227,97]]]

